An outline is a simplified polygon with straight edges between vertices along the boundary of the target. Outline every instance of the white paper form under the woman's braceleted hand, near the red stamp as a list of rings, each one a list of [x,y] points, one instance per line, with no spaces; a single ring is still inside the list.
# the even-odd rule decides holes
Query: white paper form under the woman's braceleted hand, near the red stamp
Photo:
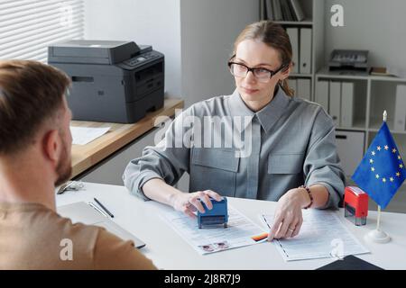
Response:
[[[369,252],[339,220],[334,211],[312,209],[304,210],[302,213],[303,224],[298,236],[272,241],[285,261],[341,258]],[[272,227],[273,215],[262,214],[260,215],[262,220],[263,216]]]

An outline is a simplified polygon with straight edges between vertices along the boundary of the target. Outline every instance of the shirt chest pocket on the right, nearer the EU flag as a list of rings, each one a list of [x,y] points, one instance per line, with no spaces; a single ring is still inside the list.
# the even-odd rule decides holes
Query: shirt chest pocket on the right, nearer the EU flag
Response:
[[[268,157],[268,174],[300,174],[304,153],[272,154]]]

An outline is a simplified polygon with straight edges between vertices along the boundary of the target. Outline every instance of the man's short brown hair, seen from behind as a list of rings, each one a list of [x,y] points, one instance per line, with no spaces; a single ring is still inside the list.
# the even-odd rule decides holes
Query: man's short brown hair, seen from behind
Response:
[[[0,60],[0,155],[27,146],[63,107],[69,76],[31,60]]]

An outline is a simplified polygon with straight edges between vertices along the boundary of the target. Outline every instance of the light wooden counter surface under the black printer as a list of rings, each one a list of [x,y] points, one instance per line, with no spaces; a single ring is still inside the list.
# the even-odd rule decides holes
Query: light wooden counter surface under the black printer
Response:
[[[154,121],[159,116],[173,116],[175,109],[183,108],[180,99],[166,98],[163,107],[155,112],[149,112],[140,121],[134,124],[120,124],[94,121],[71,121],[71,126],[78,127],[111,127],[102,137],[93,140],[87,145],[72,145],[72,178],[94,166],[119,148],[137,139],[143,133],[152,130]]]

